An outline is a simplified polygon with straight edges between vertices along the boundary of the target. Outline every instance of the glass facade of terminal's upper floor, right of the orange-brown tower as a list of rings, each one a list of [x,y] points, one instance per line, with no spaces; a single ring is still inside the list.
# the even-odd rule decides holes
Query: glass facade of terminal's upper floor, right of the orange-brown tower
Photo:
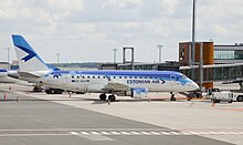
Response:
[[[243,60],[243,51],[216,50],[214,51],[214,60]]]

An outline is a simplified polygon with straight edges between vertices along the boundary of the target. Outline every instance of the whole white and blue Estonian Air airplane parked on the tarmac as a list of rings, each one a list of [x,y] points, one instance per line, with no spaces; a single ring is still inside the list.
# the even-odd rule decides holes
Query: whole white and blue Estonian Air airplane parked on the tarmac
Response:
[[[19,61],[20,79],[31,83],[74,92],[101,93],[99,99],[115,101],[115,95],[146,97],[148,92],[194,91],[199,85],[173,71],[55,71],[35,53],[21,35],[12,35]]]

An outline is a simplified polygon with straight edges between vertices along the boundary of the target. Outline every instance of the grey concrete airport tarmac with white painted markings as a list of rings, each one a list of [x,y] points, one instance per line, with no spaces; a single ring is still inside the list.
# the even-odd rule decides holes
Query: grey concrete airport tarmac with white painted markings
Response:
[[[11,86],[11,90],[9,90]],[[243,144],[243,103],[46,95],[0,84],[0,144]],[[6,97],[4,97],[6,96]],[[180,96],[181,97],[181,96]]]

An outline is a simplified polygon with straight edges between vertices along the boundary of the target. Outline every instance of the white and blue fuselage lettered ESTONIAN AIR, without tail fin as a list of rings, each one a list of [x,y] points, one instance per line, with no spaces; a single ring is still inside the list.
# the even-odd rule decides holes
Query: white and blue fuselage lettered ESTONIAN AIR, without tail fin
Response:
[[[194,85],[183,74],[172,71],[52,71],[32,81],[64,90],[101,93],[113,90],[106,87],[109,83],[148,89],[149,92],[184,92]]]

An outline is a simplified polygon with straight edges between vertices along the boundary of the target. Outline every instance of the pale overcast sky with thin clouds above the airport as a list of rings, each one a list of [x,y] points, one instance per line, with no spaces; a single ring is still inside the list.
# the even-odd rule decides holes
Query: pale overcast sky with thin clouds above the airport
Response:
[[[113,49],[134,46],[135,60],[178,60],[191,40],[192,0],[0,0],[0,61],[11,34],[22,34],[45,62],[112,62]],[[197,40],[243,42],[242,0],[197,0]]]

